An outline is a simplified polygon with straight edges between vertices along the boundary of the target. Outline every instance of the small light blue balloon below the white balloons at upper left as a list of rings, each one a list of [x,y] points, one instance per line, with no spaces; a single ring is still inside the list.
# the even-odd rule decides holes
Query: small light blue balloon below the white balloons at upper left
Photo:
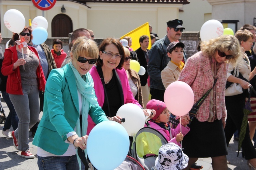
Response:
[[[33,39],[32,43],[34,45],[40,45],[44,43],[48,37],[48,33],[43,27],[37,27],[32,31]]]

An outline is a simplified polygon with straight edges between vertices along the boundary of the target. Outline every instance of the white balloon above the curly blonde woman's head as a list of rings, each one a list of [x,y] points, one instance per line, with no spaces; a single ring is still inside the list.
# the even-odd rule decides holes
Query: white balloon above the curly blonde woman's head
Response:
[[[202,41],[208,41],[212,38],[217,38],[223,35],[223,25],[221,22],[215,19],[206,21],[200,30],[200,37]]]

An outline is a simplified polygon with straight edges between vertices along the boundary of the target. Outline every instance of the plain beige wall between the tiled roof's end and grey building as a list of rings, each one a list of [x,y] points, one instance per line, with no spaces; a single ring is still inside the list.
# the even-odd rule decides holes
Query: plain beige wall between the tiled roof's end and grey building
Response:
[[[212,5],[206,0],[191,0],[181,10],[179,19],[183,21],[185,31],[200,31],[204,22],[212,19]]]

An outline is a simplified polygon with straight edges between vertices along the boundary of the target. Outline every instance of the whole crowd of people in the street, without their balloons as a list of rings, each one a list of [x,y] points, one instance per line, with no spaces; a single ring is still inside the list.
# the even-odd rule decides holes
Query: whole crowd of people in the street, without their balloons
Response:
[[[83,163],[76,149],[86,154],[94,126],[102,121],[122,123],[118,109],[133,103],[150,117],[145,127],[156,129],[168,141],[159,149],[157,170],[202,169],[196,164],[199,157],[211,157],[214,170],[228,169],[229,141],[236,131],[240,133],[246,97],[251,86],[256,88],[256,28],[246,24],[234,36],[201,41],[199,52],[187,58],[185,44],[179,42],[185,30],[182,24],[179,19],[168,21],[166,36],[157,41],[149,26],[151,35],[139,38],[138,49],[131,48],[131,37],[109,37],[98,46],[93,31],[87,29],[73,31],[67,53],[60,39],[54,39],[52,49],[45,43],[33,45],[29,27],[13,34],[4,54],[0,49],[0,90],[10,109],[2,134],[13,138],[20,156],[34,158],[30,130],[38,147],[39,169],[79,169]],[[144,75],[130,68],[131,60],[145,68]],[[174,126],[164,94],[175,81],[187,83],[194,103],[201,105],[194,116],[182,116],[181,124]],[[241,86],[242,92],[225,96],[227,82]],[[248,115],[242,153],[247,165],[256,169],[252,143],[256,142],[256,94],[251,100],[253,112]],[[201,137],[204,140],[196,140]],[[169,150],[183,156],[173,159]]]

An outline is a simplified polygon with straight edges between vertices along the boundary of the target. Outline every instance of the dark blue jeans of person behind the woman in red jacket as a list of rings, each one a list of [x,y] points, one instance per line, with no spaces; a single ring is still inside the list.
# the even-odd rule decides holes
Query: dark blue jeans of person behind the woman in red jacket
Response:
[[[19,118],[15,112],[14,106],[10,100],[9,94],[6,93],[6,91],[1,91],[2,92],[2,96],[3,96],[3,100],[5,101],[5,103],[7,104],[10,112],[9,115],[7,116],[4,126],[3,126],[3,131],[6,131],[8,129],[13,128],[13,130],[15,131],[18,128],[18,123],[19,123]]]

